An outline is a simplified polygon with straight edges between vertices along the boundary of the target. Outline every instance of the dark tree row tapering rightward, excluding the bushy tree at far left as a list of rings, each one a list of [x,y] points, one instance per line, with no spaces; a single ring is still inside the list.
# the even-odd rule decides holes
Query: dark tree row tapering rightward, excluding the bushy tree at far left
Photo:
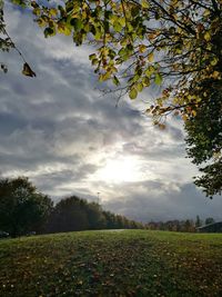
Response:
[[[97,202],[72,196],[56,205],[44,225],[47,232],[63,232],[92,229],[143,228],[142,224],[124,216],[104,211]]]

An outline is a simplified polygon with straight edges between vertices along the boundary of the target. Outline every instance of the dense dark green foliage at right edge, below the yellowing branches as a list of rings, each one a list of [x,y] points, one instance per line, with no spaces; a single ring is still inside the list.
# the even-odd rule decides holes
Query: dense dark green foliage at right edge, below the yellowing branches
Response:
[[[186,151],[194,164],[201,166],[208,162],[200,168],[203,175],[194,182],[212,198],[222,192],[222,85],[206,79],[199,86],[208,96],[203,96],[195,116],[185,121]]]

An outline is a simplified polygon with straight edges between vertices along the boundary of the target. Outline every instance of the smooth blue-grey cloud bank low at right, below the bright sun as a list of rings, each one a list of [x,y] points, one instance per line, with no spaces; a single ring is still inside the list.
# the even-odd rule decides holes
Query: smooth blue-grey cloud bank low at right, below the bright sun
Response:
[[[127,190],[129,187],[130,190]],[[117,196],[110,201],[104,201],[104,206],[144,222],[160,219],[195,219],[196,215],[202,218],[213,216],[218,220],[222,219],[220,197],[210,200],[190,184],[164,184],[157,180],[125,185],[115,190]]]

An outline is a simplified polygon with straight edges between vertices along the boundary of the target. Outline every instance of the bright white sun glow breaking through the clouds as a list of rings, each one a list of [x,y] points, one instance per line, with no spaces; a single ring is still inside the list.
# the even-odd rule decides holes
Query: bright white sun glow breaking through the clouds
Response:
[[[140,161],[134,157],[108,159],[105,166],[98,170],[95,178],[108,182],[140,181],[144,179]]]

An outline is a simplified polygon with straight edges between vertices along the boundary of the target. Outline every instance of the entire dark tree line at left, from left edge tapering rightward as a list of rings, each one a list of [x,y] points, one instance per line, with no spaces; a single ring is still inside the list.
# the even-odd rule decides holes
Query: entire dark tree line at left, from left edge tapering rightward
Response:
[[[89,229],[143,228],[142,224],[104,211],[97,202],[72,196],[56,206],[28,178],[0,180],[0,230],[12,237],[36,231],[65,232]]]

